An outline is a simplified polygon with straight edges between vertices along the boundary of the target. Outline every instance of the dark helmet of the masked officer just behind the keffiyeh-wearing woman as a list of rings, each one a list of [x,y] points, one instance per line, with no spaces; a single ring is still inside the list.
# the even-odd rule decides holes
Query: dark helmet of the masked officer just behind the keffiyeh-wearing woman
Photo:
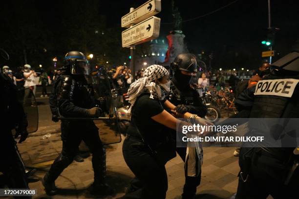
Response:
[[[182,70],[189,73],[196,73],[197,62],[195,56],[190,53],[179,54],[173,62],[171,62],[171,70]]]

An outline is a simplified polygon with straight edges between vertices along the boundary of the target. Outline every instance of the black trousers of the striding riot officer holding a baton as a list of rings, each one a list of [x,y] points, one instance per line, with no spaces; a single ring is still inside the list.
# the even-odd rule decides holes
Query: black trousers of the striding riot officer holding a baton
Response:
[[[79,150],[82,140],[86,143],[92,153],[92,168],[94,171],[94,182],[103,183],[106,177],[106,150],[99,137],[98,128],[91,123],[74,124],[63,121],[61,124],[63,149],[55,159],[49,172],[47,180],[55,181],[63,170],[73,161]]]

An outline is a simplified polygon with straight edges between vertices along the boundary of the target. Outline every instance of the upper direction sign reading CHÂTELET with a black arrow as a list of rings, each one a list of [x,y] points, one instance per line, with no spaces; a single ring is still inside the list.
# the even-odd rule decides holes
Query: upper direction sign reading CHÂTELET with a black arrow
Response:
[[[161,0],[149,0],[136,8],[133,12],[122,17],[122,27],[128,28],[130,24],[136,24],[146,20],[161,11]]]

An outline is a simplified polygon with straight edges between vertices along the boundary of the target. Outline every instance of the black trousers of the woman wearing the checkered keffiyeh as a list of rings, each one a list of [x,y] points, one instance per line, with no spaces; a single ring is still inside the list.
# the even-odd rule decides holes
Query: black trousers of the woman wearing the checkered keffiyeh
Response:
[[[168,189],[165,165],[158,162],[141,139],[127,137],[123,156],[137,179],[135,190],[128,191],[124,199],[165,199]],[[138,189],[139,187],[142,187]]]

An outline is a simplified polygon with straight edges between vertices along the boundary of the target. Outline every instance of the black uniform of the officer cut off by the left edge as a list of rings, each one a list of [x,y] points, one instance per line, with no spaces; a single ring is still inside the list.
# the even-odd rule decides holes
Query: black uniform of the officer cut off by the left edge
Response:
[[[0,133],[0,171],[4,174],[9,188],[28,189],[25,170],[11,133],[11,130],[18,126],[17,132],[21,133],[21,140],[25,139],[22,138],[24,134],[27,135],[24,110],[18,101],[16,86],[8,80],[7,76],[2,74],[0,74],[0,90],[2,93],[0,105],[3,122]]]

